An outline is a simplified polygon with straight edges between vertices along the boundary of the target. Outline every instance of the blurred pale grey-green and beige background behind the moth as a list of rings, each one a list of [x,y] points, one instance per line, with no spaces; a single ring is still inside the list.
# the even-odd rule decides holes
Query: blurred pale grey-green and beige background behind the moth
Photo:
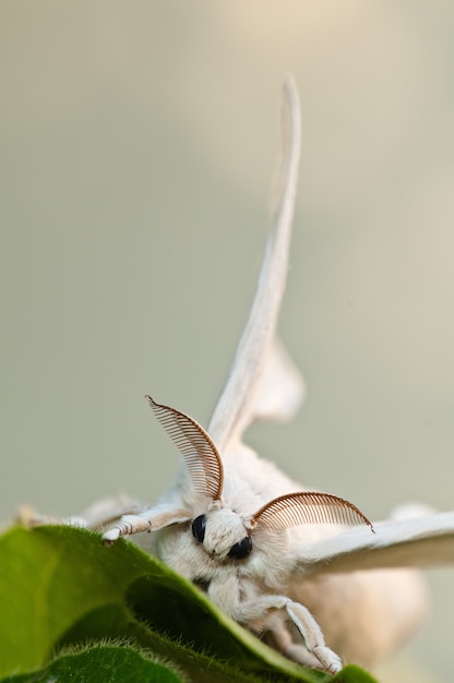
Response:
[[[303,142],[280,335],[309,393],[250,441],[372,518],[453,506],[453,22],[447,0],[2,0],[1,519],[170,482],[143,397],[208,421],[287,71]],[[430,580],[395,667],[447,682],[454,568]]]

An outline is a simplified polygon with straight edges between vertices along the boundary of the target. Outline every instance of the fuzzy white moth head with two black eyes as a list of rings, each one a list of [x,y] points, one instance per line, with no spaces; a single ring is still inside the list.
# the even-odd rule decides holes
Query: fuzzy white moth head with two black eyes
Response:
[[[244,560],[252,550],[252,539],[241,515],[228,507],[199,515],[191,531],[208,555],[217,560]]]

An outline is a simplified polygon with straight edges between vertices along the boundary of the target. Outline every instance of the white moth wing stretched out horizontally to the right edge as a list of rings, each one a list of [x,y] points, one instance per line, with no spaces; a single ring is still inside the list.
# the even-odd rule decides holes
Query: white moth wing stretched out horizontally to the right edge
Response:
[[[295,549],[294,573],[313,576],[383,567],[435,566],[454,562],[454,512],[357,527]],[[299,555],[299,558],[298,558]]]

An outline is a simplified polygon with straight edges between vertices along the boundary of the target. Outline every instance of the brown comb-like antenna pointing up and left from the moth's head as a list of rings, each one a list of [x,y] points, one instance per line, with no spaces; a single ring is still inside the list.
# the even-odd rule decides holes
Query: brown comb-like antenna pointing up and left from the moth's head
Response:
[[[146,396],[153,411],[184,458],[192,484],[198,493],[213,501],[220,499],[224,469],[220,455],[195,420]]]

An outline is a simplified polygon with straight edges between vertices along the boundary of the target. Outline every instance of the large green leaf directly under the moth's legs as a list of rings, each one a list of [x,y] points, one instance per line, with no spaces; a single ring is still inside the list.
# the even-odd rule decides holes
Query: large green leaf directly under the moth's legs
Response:
[[[15,527],[0,537],[0,676],[49,671],[63,659],[79,675],[87,661],[82,652],[53,660],[52,654],[87,642],[111,644],[113,638],[128,644],[116,652],[157,656],[198,683],[373,681],[356,667],[346,667],[334,679],[303,669],[133,543],[103,546],[98,535],[86,530]],[[108,657],[113,652],[109,647]],[[100,649],[91,647],[85,656],[101,657]],[[48,673],[47,680],[52,678]]]

